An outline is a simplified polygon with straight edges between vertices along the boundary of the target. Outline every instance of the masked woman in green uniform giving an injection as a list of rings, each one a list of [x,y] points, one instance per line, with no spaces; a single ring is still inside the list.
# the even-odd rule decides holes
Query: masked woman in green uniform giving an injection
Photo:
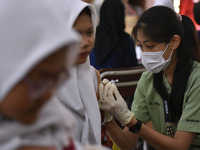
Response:
[[[132,149],[138,137],[156,149],[200,148],[200,49],[191,19],[165,6],[145,11],[133,29],[147,69],[139,80],[132,112],[116,86],[99,86],[100,108],[117,119],[107,122],[121,149]],[[153,129],[145,125],[152,121]]]

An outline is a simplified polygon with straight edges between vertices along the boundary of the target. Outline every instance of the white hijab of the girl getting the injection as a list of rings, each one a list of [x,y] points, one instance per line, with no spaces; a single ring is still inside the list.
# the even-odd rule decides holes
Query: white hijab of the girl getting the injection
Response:
[[[66,25],[70,28],[80,12],[89,7],[92,14],[94,33],[96,31],[96,11],[94,7],[81,0],[47,0],[64,14]],[[72,76],[57,92],[57,97],[76,116],[79,130],[76,138],[81,143],[101,144],[101,118],[94,88],[94,72],[89,57],[84,64],[72,69]],[[96,79],[95,79],[96,80]]]

